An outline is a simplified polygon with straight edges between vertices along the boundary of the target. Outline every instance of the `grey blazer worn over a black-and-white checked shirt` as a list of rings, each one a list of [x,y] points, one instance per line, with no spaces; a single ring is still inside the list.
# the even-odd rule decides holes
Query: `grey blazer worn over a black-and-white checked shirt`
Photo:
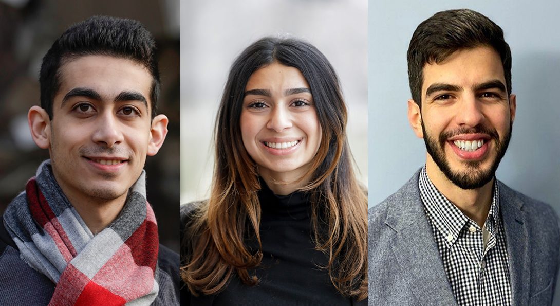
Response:
[[[420,171],[368,211],[368,305],[456,305],[420,191]],[[560,232],[552,208],[500,187],[514,305],[550,305]]]

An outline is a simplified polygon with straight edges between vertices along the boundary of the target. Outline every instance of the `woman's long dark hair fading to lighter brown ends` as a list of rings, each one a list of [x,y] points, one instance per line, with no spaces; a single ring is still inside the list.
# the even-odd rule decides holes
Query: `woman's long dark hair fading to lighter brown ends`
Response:
[[[246,285],[258,283],[248,270],[259,266],[262,259],[257,193],[261,186],[257,165],[243,145],[240,118],[249,77],[273,62],[295,67],[304,75],[322,129],[319,150],[301,178],[310,178],[309,183],[300,189],[310,194],[312,239],[328,258],[321,268],[328,271],[341,294],[365,299],[367,195],[354,174],[346,104],[337,74],[325,56],[311,44],[293,38],[259,39],[231,66],[214,127],[211,196],[187,225],[183,243],[189,252],[181,277],[195,295],[219,292],[234,272]],[[250,248],[248,239],[258,249]]]

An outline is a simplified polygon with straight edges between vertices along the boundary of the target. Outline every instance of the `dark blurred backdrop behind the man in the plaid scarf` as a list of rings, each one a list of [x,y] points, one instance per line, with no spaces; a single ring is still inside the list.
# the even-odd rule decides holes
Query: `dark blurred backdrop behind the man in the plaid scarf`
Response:
[[[179,250],[179,0],[0,0],[0,213],[24,190],[47,150],[32,141],[27,110],[39,105],[41,59],[68,26],[93,15],[139,20],[155,36],[169,134],[146,161],[147,196],[160,242]]]

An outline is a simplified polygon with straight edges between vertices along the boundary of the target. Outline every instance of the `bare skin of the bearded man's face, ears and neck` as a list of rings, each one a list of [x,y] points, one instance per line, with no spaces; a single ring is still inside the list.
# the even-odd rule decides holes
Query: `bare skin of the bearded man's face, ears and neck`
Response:
[[[470,182],[479,180],[481,186],[457,186],[429,152],[428,177],[466,216],[483,226],[492,203],[493,171],[500,151],[503,155],[507,149],[516,109],[515,95],[508,96],[505,90],[500,55],[489,47],[458,50],[442,63],[426,64],[423,76],[422,109],[413,100],[408,101],[410,126],[419,138],[433,141],[435,151],[444,156],[452,173]],[[439,141],[441,136],[443,143]],[[452,147],[454,140],[469,137],[486,138],[487,147],[478,149],[483,149],[479,151],[482,155],[461,156],[461,151]],[[490,174],[488,182],[482,180],[484,173]]]

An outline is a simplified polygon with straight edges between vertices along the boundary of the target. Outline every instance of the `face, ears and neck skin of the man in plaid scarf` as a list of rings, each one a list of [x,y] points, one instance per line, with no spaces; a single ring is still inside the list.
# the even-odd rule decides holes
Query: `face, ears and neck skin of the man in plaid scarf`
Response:
[[[27,118],[35,143],[49,150],[60,188],[96,234],[122,210],[146,156],[164,143],[167,117],[151,119],[152,77],[129,59],[86,55],[60,72],[53,119],[39,106]],[[104,165],[108,160],[119,163]]]

